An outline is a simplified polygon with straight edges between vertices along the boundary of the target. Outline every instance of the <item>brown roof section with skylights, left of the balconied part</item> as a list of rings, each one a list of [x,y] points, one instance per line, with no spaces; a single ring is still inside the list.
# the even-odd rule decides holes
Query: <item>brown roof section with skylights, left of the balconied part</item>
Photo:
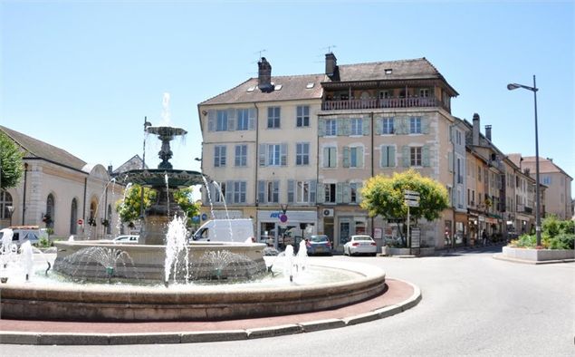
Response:
[[[275,85],[273,92],[260,91],[257,88],[257,78],[250,78],[229,91],[202,101],[199,105],[321,99],[321,82],[326,78],[324,74],[275,76],[272,77],[272,83]],[[307,88],[311,83],[313,86]]]

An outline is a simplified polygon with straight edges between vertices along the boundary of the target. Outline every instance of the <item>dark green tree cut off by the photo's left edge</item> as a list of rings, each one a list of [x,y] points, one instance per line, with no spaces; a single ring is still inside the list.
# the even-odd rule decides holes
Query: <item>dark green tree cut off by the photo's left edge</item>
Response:
[[[24,174],[24,152],[0,132],[0,188],[14,188]]]

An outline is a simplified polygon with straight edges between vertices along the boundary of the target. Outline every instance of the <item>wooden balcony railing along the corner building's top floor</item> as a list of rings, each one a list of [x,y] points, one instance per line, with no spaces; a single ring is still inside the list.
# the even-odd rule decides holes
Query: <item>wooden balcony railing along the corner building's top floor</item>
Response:
[[[437,107],[445,108],[443,102],[435,97],[411,97],[411,98],[388,98],[388,99],[350,99],[344,101],[323,101],[323,111],[342,111],[357,109],[379,108],[412,108],[412,107]],[[446,108],[448,109],[448,108]]]

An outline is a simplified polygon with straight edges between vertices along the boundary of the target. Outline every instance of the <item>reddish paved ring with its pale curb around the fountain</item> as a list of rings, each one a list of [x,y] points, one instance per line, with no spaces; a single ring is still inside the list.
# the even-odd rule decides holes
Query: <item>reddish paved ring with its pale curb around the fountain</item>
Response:
[[[244,340],[365,323],[406,311],[421,300],[416,285],[390,278],[386,279],[386,285],[384,294],[359,304],[309,314],[232,321],[84,323],[0,319],[0,343],[83,345]]]

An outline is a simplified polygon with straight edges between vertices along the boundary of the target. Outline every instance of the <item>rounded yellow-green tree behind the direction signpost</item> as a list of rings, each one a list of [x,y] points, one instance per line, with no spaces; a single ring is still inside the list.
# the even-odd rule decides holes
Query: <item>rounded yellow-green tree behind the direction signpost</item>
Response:
[[[370,217],[407,218],[404,202],[406,190],[419,192],[419,207],[409,207],[409,216],[416,225],[421,217],[428,221],[437,219],[449,207],[447,190],[432,178],[421,176],[416,170],[394,173],[392,177],[378,175],[369,178],[361,189],[361,207]]]

